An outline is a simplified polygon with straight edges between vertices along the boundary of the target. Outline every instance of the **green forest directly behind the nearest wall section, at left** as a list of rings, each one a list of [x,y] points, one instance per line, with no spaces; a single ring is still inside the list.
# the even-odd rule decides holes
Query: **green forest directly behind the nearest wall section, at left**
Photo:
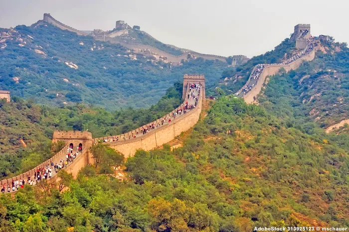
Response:
[[[18,97],[12,97],[10,103],[1,100],[0,178],[27,171],[59,152],[62,144],[51,143],[53,131],[88,130],[99,138],[131,131],[164,116],[181,103],[182,85],[174,83],[150,108],[113,112],[83,104],[40,106]]]

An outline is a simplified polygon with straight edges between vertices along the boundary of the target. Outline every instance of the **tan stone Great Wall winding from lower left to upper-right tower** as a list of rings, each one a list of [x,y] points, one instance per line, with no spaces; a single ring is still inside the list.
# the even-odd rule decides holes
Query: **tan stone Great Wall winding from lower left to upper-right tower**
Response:
[[[309,25],[309,24],[299,24],[299,25]],[[298,25],[297,25],[298,26]],[[297,27],[296,26],[296,27]],[[295,27],[295,33],[296,33],[296,27]],[[297,27],[297,30],[299,28]],[[72,28],[72,30],[75,30]],[[299,32],[297,32],[299,33]],[[302,33],[301,31],[301,34]],[[309,25],[309,32],[307,32],[306,35],[304,35],[304,39],[309,38],[310,36],[310,25]],[[297,37],[298,40],[301,40],[300,37]],[[303,43],[301,43],[303,46]],[[307,51],[307,46],[305,50]],[[311,61],[315,58],[315,49],[314,46],[312,49],[296,59],[293,62],[290,62],[288,64],[272,64],[267,65],[263,71],[260,74],[260,77],[256,81],[256,84],[253,86],[251,91],[249,91],[247,94],[243,96],[244,100],[247,103],[252,103],[255,101],[257,95],[260,93],[264,82],[266,81],[267,77],[273,76],[279,72],[281,68],[285,69],[287,72],[290,70],[294,70],[299,68],[299,66],[305,62],[305,61]],[[258,65],[257,65],[258,66]],[[253,71],[256,69],[254,67]],[[253,74],[253,71],[246,82],[246,85],[248,85],[251,81],[251,77]],[[184,104],[186,101],[188,101],[187,94],[189,93],[189,83],[199,83],[201,84],[201,90],[199,92],[199,97],[197,100],[196,107],[188,110],[185,114],[178,115],[178,117],[174,117],[173,114],[178,109],[183,109]],[[242,88],[236,93],[239,95],[241,93]],[[184,94],[185,93],[185,94]],[[56,155],[51,157],[50,159],[46,160],[45,162],[41,163],[40,165],[32,168],[31,170],[24,172],[22,174],[19,174],[17,176],[14,176],[12,178],[1,180],[1,185],[4,184],[11,184],[13,180],[19,180],[19,179],[27,179],[28,177],[33,177],[34,172],[38,168],[43,168],[47,164],[50,163],[58,163],[61,159],[65,160],[66,150],[68,146],[77,146],[81,145],[83,150],[82,152],[74,159],[73,162],[69,163],[64,169],[73,174],[74,177],[76,177],[79,170],[89,164],[94,164],[95,160],[89,151],[89,148],[92,146],[93,143],[97,141],[104,140],[106,144],[108,144],[111,148],[121,152],[124,154],[125,158],[129,156],[133,156],[135,152],[139,149],[143,149],[145,151],[150,151],[152,149],[158,148],[166,143],[169,143],[170,141],[174,140],[175,137],[180,135],[182,132],[187,131],[191,127],[193,127],[199,120],[199,116],[202,110],[202,101],[205,99],[205,78],[204,76],[199,75],[184,75],[183,77],[183,103],[178,106],[176,109],[174,109],[169,114],[165,115],[166,118],[173,118],[171,122],[167,122],[164,125],[161,125],[159,127],[156,127],[155,129],[149,131],[146,134],[139,135],[137,137],[132,137],[132,135],[138,134],[137,130],[141,129],[135,129],[133,131],[130,131],[125,134],[121,134],[118,136],[109,136],[109,137],[102,137],[97,139],[92,139],[92,134],[90,132],[84,131],[84,132],[78,132],[78,131],[56,131],[53,134],[52,142],[57,141],[65,141],[66,146]],[[163,122],[163,118],[160,118],[154,122],[151,122],[147,125],[160,125],[161,122]],[[143,127],[146,127],[147,125],[144,125]],[[114,139],[118,137],[120,138],[120,141],[115,141]],[[53,179],[55,179],[55,176],[53,176]]]

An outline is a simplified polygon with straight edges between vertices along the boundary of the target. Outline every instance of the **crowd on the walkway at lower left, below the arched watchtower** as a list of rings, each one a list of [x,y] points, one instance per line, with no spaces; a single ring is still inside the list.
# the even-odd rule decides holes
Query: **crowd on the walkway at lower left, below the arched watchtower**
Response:
[[[67,166],[70,162],[72,162],[79,153],[82,152],[81,147],[76,148],[76,153],[73,154],[73,148],[67,148],[67,153],[65,155],[65,160],[61,159],[58,163],[47,163],[43,168],[37,168],[34,172],[33,176],[27,176],[27,180],[12,180],[11,184],[4,184],[1,187],[1,193],[5,192],[13,192],[18,190],[18,188],[23,188],[25,184],[36,185],[42,179],[50,179],[52,178],[53,173],[57,173],[60,169]]]

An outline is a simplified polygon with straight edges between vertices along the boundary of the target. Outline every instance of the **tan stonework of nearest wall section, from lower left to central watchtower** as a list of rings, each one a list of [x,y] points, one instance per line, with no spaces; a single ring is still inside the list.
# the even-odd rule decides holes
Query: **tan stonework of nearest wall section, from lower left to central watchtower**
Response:
[[[164,125],[156,127],[153,130],[150,130],[147,134],[144,134],[144,135],[139,134],[136,138],[129,139],[129,137],[132,134],[136,134],[136,130],[130,131],[126,134],[118,135],[120,139],[122,137],[124,137],[125,139],[117,142],[108,142],[106,144],[109,144],[110,147],[124,154],[125,157],[129,157],[129,156],[133,156],[138,149],[150,151],[152,149],[158,148],[159,146],[170,142],[176,136],[179,136],[182,132],[193,127],[195,123],[199,120],[199,115],[201,113],[202,100],[204,99],[204,96],[205,96],[205,89],[203,84],[200,92],[197,92],[197,91],[194,92],[194,95],[199,94],[198,100],[196,102],[194,99],[188,99],[187,95],[189,93],[189,83],[187,83],[187,86],[185,87],[187,91],[186,91],[186,95],[183,103],[180,104],[180,106],[174,109],[171,113],[164,116],[164,117],[167,117],[167,119],[171,118],[171,122],[166,122],[164,123]],[[179,109],[183,110],[186,102],[188,102],[188,104],[194,104],[196,102],[196,106],[194,108],[187,109],[185,114],[181,113],[180,115],[177,115],[174,118],[174,115],[173,115],[174,112],[176,112]],[[151,122],[147,125],[151,125],[151,124],[157,125],[158,123],[161,125],[163,118],[158,119],[154,122]],[[146,127],[147,125],[145,125],[144,127]],[[81,168],[83,168],[86,165],[92,164],[91,160],[94,161],[94,159],[91,157],[91,153],[89,152],[89,148],[92,144],[92,141],[90,140],[90,136],[91,136],[90,134],[91,133],[88,133],[88,132],[55,132],[53,140],[57,140],[57,138],[63,139],[64,141],[67,142],[67,146],[65,146],[56,155],[52,156],[51,158],[47,159],[46,161],[37,165],[31,170],[11,178],[0,180],[1,186],[10,185],[12,187],[12,181],[24,179],[25,182],[27,182],[28,177],[30,177],[31,180],[34,180],[34,173],[37,171],[37,169],[40,169],[40,168],[44,169],[45,167],[50,166],[52,162],[54,164],[60,163],[61,159],[63,161],[66,160],[67,148],[70,143],[74,144],[74,148],[79,143],[82,143],[83,151],[79,153],[79,155],[73,160],[73,162],[70,162],[66,167],[63,168],[68,173],[71,173],[74,177],[76,177]],[[102,137],[102,138],[94,139],[93,141],[94,142],[97,142],[100,140],[103,141],[104,139],[111,140],[115,137],[117,136]],[[56,178],[57,178],[56,172],[53,170],[53,167],[52,167],[52,178],[49,180],[54,181]]]

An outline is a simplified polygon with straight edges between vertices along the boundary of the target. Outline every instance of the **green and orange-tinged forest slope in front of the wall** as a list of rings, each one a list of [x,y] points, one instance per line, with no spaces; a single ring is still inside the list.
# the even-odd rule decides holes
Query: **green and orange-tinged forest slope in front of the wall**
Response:
[[[348,147],[231,96],[212,104],[183,147],[139,151],[129,181],[87,166],[66,191],[0,197],[7,231],[219,231],[348,227]],[[107,151],[107,150],[106,150]]]

